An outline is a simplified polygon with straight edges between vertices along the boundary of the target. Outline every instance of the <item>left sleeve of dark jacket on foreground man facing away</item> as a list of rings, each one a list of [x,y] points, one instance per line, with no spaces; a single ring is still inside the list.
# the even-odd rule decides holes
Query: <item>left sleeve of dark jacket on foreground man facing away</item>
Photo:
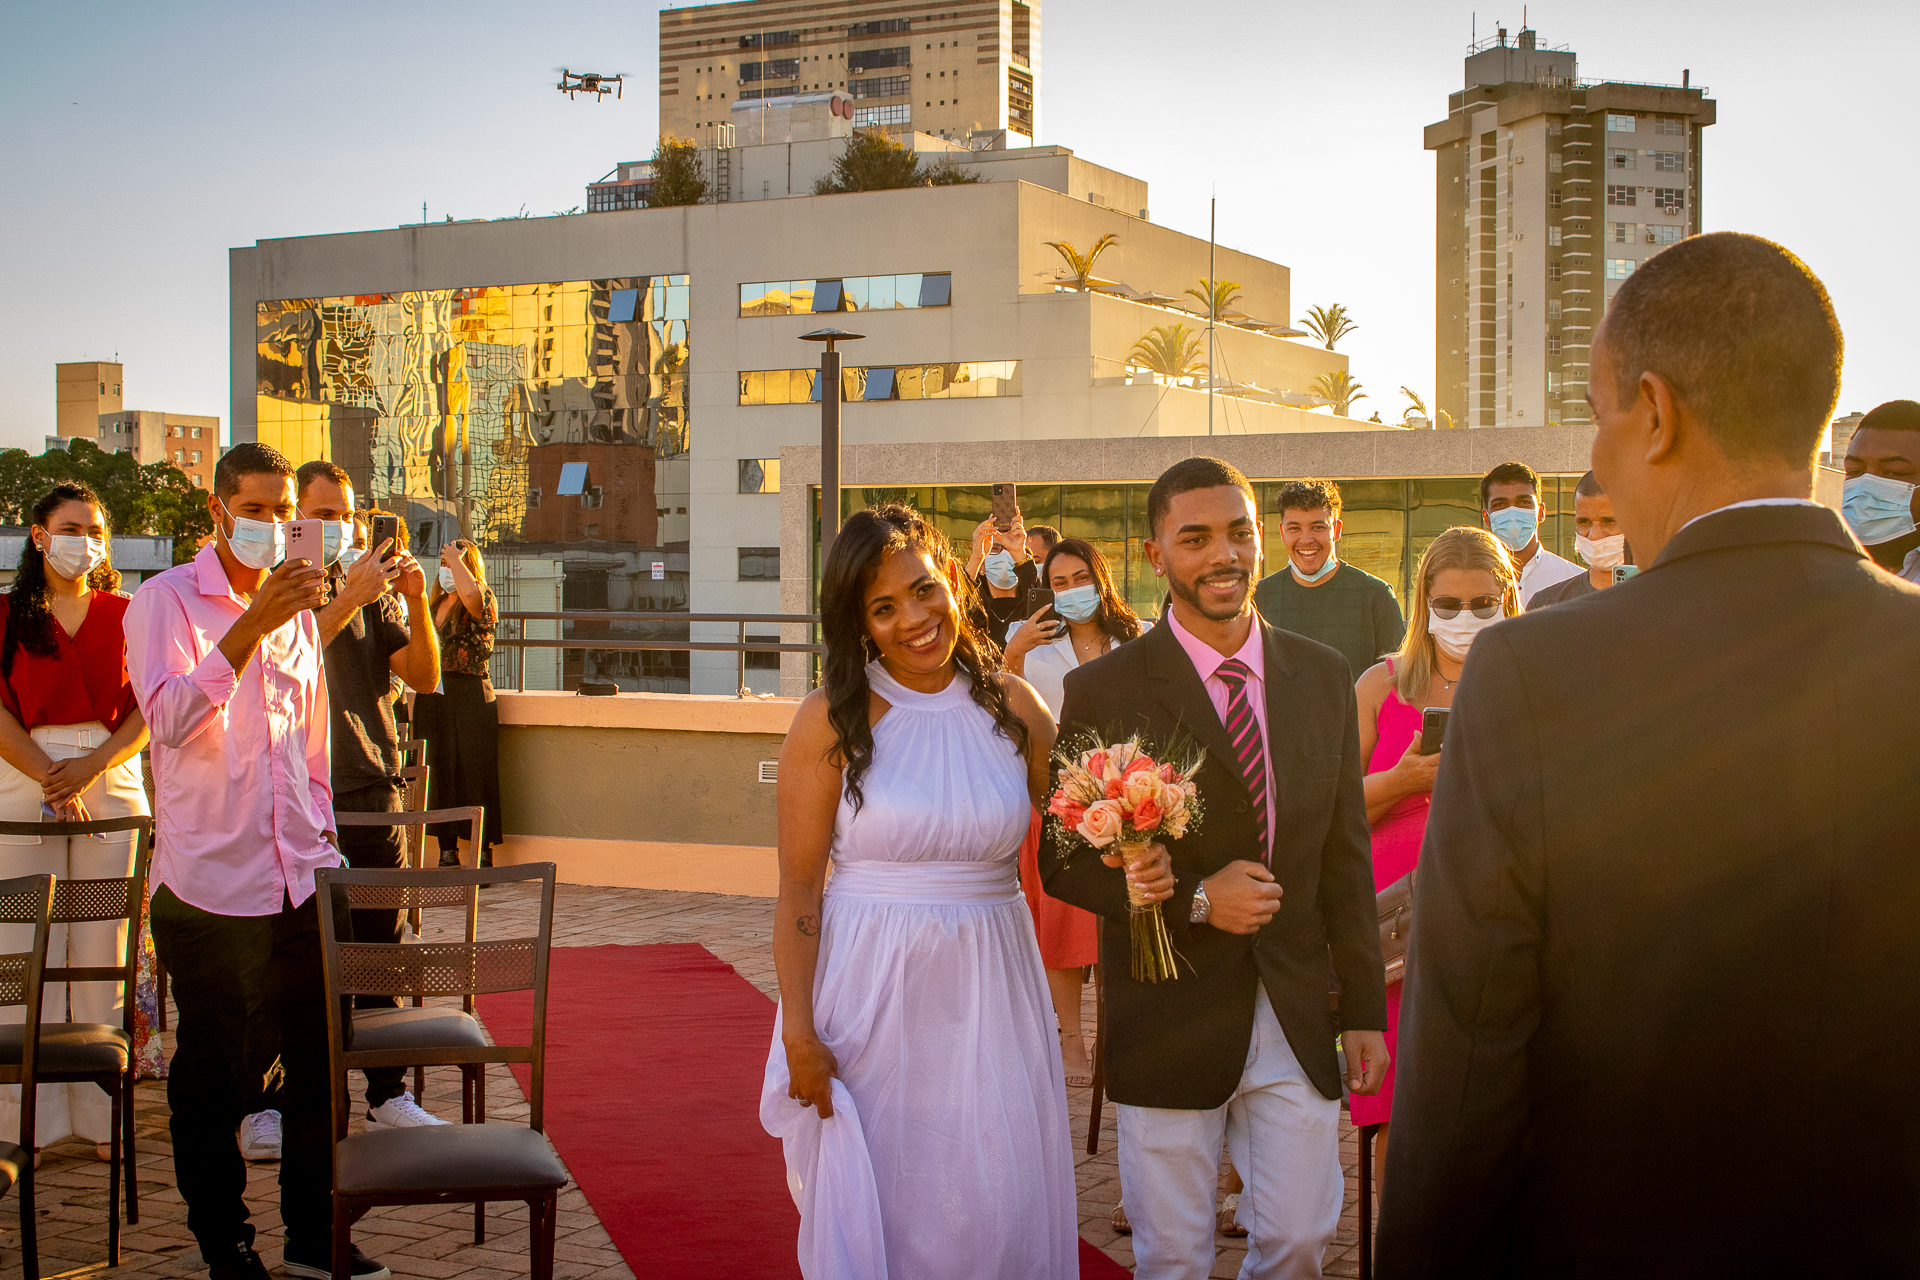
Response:
[[[1513,1211],[1540,1027],[1540,748],[1513,651],[1482,631],[1453,699],[1421,846],[1400,1007],[1382,1278],[1476,1274]]]

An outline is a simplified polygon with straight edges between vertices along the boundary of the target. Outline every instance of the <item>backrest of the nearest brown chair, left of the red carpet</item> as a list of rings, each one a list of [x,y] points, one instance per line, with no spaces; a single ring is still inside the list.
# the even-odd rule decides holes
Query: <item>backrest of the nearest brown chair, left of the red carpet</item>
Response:
[[[346,818],[338,814],[336,818]],[[363,814],[372,818],[372,814]],[[384,814],[394,818],[394,814]],[[553,948],[553,864],[532,862],[513,867],[432,867],[424,871],[355,871],[324,867],[315,873],[321,908],[321,956],[326,973],[328,1063],[334,1082],[334,1136],[348,1126],[348,1073],[369,1067],[415,1067],[459,1063],[528,1063],[528,1105],[532,1128],[541,1126],[547,1061],[547,956]],[[349,910],[409,910],[453,906],[478,898],[486,885],[540,883],[538,931],[532,936],[465,942],[344,942],[340,938]],[[472,912],[468,919],[472,919]],[[534,992],[534,1021],[528,1044],[440,1050],[349,1050],[346,1034],[348,996],[461,996],[470,1007],[474,996],[509,990]]]

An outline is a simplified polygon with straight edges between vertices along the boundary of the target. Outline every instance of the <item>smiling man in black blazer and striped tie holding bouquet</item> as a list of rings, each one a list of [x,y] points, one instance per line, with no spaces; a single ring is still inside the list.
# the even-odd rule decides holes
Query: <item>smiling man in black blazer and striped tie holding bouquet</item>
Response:
[[[1046,890],[1106,917],[1106,1086],[1137,1276],[1206,1276],[1221,1142],[1246,1182],[1242,1276],[1319,1276],[1340,1219],[1340,1067],[1386,1073],[1386,996],[1346,658],[1254,612],[1260,516],[1246,476],[1187,459],[1148,495],[1173,606],[1066,677],[1062,748],[1098,733],[1190,739],[1204,818],[1144,877],[1183,956],[1135,983],[1125,873],[1085,844],[1041,850]],[[1329,988],[1340,984],[1338,1015]]]

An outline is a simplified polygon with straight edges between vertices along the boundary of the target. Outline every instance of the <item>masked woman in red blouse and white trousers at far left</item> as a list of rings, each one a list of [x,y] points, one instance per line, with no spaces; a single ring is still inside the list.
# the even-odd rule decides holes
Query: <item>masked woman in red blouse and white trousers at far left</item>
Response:
[[[13,589],[0,595],[0,819],[65,821],[146,814],[140,748],[146,718],[127,681],[121,618],[127,597],[108,560],[108,518],[92,489],[56,486],[35,503]],[[132,875],[132,833],[111,837],[0,835],[0,877],[54,873],[61,879]],[[0,950],[19,952],[23,925],[0,929]],[[119,965],[125,921],[54,931],[50,965]],[[29,931],[31,933],[31,931]],[[54,954],[60,948],[60,956]],[[129,992],[131,994],[131,992]],[[46,1021],[121,1023],[113,983],[48,984]],[[21,1009],[0,1011],[19,1021]],[[108,1157],[111,1100],[92,1084],[42,1084],[35,1140],[81,1136]],[[19,1086],[0,1096],[0,1132],[19,1125]]]

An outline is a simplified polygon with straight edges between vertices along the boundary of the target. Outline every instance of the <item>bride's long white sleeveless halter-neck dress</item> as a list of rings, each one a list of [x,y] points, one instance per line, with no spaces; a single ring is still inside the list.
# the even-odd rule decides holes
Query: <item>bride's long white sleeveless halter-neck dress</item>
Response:
[[[833,1117],[787,1096],[774,1023],[760,1123],[781,1140],[806,1280],[1064,1280],[1079,1222],[1060,1040],[1018,885],[1027,764],[964,676],[891,706],[841,796],[814,1027]]]

